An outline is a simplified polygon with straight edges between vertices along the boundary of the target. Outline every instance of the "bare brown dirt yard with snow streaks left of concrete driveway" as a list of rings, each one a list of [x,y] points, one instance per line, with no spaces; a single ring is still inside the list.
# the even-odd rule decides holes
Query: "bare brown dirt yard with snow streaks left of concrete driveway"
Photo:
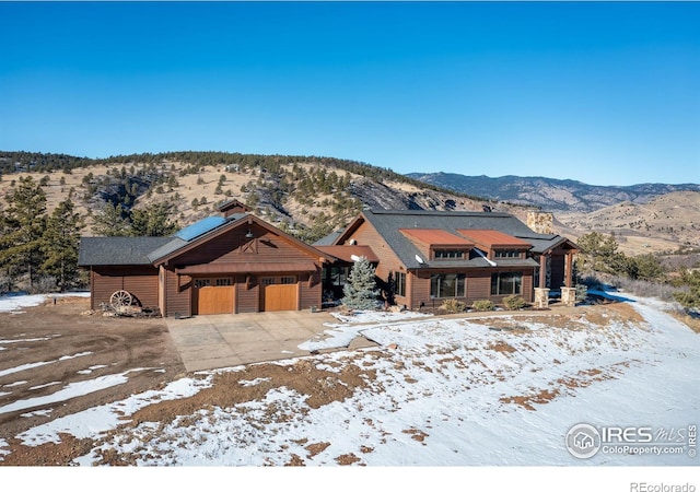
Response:
[[[67,414],[156,389],[185,374],[162,319],[83,315],[89,307],[86,298],[66,297],[56,304],[26,308],[22,314],[0,313],[0,340],[5,342],[0,344],[0,407],[50,395],[58,384],[66,387],[131,371],[125,384],[39,408],[0,413],[0,438],[9,442],[13,450],[0,460],[0,466],[65,465],[68,457],[61,458],[56,446],[26,448],[14,436]],[[25,341],[8,343],[11,340]],[[48,364],[3,374],[38,362]],[[50,412],[39,414],[37,410]],[[31,417],[22,417],[30,412]],[[74,447],[75,443],[71,445]]]

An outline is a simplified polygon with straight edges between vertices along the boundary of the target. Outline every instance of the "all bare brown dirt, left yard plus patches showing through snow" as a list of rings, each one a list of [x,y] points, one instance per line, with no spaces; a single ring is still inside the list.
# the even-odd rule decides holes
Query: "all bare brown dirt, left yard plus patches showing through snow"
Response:
[[[0,413],[0,443],[2,440],[8,443],[0,449],[0,466],[68,466],[74,458],[94,449],[101,437],[78,440],[61,434],[60,443],[25,446],[15,436],[27,429],[67,414],[119,401],[149,389],[162,388],[186,374],[162,319],[105,318],[82,314],[88,308],[88,300],[73,297],[58,300],[57,304],[26,308],[22,314],[0,313],[0,408],[15,401],[50,395],[58,385],[63,388],[71,383],[94,380],[101,375],[128,372],[128,382],[125,384],[38,408]],[[514,329],[521,320],[533,317],[533,320],[546,318],[551,326],[576,329],[582,315],[588,321],[600,326],[611,320],[631,324],[640,321],[639,315],[629,305],[605,303],[585,309],[524,312],[510,321],[491,319],[489,324],[499,327],[502,323],[504,328]],[[478,319],[474,320],[479,323]],[[12,340],[22,341],[11,342]],[[512,348],[501,344],[492,347],[492,350],[509,351]],[[386,356],[381,351],[373,354],[376,358]],[[347,356],[351,359],[353,354],[349,353]],[[48,364],[24,366],[37,362]],[[125,422],[125,425],[138,425],[143,421],[166,425],[176,415],[190,414],[199,408],[226,407],[252,401],[261,398],[270,388],[279,386],[308,395],[310,407],[317,408],[331,401],[341,401],[368,380],[374,380],[372,371],[361,365],[346,364],[339,367],[342,371],[322,371],[304,359],[284,366],[249,365],[242,371],[217,375],[213,387],[202,389],[192,397],[145,407],[131,415],[130,422]],[[21,371],[16,371],[18,368]],[[581,386],[603,377],[605,374],[600,373],[582,374],[580,380],[574,378],[575,380],[562,382],[562,385]],[[265,383],[255,386],[240,384],[242,380],[256,378],[264,378]],[[528,408],[532,407],[530,402],[546,402],[556,396],[556,393],[540,393],[513,398],[512,402]],[[419,440],[420,436],[415,435],[413,438]],[[306,449],[310,456],[328,445],[315,442],[304,444],[308,444]],[[108,449],[101,453],[100,465],[136,465],[136,458],[129,454],[118,455]],[[298,458],[292,459],[288,466],[303,465],[303,457]],[[348,455],[338,457],[337,461],[340,465],[350,465],[358,459],[354,455]]]

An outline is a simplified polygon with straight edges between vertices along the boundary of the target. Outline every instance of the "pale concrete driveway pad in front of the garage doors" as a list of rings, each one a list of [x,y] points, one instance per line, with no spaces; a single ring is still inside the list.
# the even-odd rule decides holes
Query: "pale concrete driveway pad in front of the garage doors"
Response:
[[[168,317],[165,323],[187,371],[203,371],[310,355],[298,345],[329,329],[324,323],[338,320],[325,312],[284,311]]]

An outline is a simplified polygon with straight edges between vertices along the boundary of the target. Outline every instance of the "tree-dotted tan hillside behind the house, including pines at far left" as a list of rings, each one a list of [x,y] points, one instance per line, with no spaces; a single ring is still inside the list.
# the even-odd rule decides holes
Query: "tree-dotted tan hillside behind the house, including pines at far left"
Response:
[[[0,290],[20,280],[30,289],[70,288],[80,282],[81,235],[170,235],[234,198],[308,243],[343,227],[363,207],[500,207],[332,157],[170,152],[91,160],[0,152]]]

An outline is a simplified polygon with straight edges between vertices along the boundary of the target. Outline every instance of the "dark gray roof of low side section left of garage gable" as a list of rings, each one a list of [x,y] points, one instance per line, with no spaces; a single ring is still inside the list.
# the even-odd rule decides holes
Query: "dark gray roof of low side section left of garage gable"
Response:
[[[172,237],[82,237],[78,265],[151,265],[149,253],[171,241]]]

